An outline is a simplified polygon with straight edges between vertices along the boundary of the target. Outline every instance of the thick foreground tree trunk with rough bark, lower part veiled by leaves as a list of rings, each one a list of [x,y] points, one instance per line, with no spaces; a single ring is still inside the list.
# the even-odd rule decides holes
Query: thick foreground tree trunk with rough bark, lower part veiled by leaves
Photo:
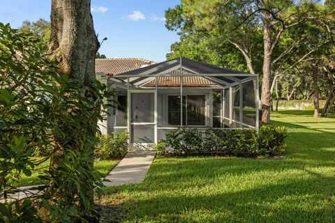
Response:
[[[80,12],[80,13],[77,13]],[[51,10],[51,38],[49,53],[50,58],[55,61],[59,67],[61,75],[68,77],[68,79],[77,82],[77,91],[81,95],[85,95],[87,100],[94,103],[97,98],[97,93],[94,90],[94,83],[96,82],[95,75],[95,56],[98,52],[98,37],[94,31],[94,23],[91,15],[91,0],[52,0]],[[92,104],[87,106],[91,107]],[[50,170],[54,179],[47,191],[48,194],[57,193],[57,197],[65,197],[66,202],[73,203],[73,199],[77,201],[77,208],[86,216],[91,216],[89,211],[94,206],[93,189],[95,187],[94,181],[77,183],[77,186],[82,190],[86,187],[88,190],[77,190],[75,194],[68,192],[68,188],[73,187],[59,187],[64,180],[61,176],[61,169],[59,166],[63,160],[66,160],[66,148],[74,145],[80,147],[83,154],[89,155],[91,160],[94,158],[94,144],[91,139],[96,136],[96,127],[98,123],[98,116],[84,117],[78,111],[74,114],[75,119],[82,120],[89,123],[83,126],[82,137],[80,143],[74,137],[68,141],[64,147],[59,148],[57,153],[51,157]],[[61,126],[64,132],[71,132],[73,130],[73,123],[64,122]],[[57,140],[58,141],[58,140]],[[78,144],[79,143],[79,144]],[[89,171],[93,167],[93,162],[83,162],[80,164],[81,169]],[[89,176],[88,176],[89,177]],[[55,200],[54,202],[57,202]]]

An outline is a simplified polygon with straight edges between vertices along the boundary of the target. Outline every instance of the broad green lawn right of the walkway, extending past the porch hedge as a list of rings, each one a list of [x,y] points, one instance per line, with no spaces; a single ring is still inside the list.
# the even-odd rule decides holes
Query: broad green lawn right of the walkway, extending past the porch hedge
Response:
[[[159,157],[144,183],[107,188],[101,203],[124,222],[334,222],[335,117],[311,116],[272,113],[290,128],[286,157]]]

